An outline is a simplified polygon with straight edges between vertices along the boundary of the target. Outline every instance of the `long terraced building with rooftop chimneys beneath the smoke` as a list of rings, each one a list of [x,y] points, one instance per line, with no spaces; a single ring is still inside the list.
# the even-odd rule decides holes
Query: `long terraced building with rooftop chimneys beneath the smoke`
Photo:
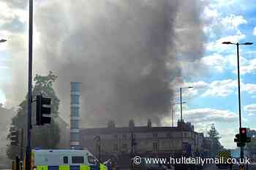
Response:
[[[130,158],[132,154],[169,158],[181,152],[195,155],[203,144],[201,135],[194,131],[191,123],[183,121],[176,127],[153,127],[151,120],[146,126],[135,126],[130,120],[129,126],[116,127],[110,121],[106,128],[80,129],[80,146],[102,158],[101,161],[109,157]]]

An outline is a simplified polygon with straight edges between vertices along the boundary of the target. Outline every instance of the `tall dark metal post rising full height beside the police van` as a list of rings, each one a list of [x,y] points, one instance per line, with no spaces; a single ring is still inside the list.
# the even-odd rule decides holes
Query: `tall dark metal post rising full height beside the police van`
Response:
[[[26,170],[31,170],[31,101],[32,101],[32,55],[33,55],[33,0],[29,0],[29,85],[27,115]]]

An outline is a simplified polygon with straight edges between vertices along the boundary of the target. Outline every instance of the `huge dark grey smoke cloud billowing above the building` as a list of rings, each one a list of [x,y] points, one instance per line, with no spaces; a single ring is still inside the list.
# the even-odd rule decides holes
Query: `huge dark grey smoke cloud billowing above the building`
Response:
[[[34,17],[36,70],[59,76],[61,114],[69,115],[70,82],[82,83],[83,125],[159,124],[169,114],[170,81],[181,76],[178,57],[203,54],[200,10],[195,0],[45,1]]]

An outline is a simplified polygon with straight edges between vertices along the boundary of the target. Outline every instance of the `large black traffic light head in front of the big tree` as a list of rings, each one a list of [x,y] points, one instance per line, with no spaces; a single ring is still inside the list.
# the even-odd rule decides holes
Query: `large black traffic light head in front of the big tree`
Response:
[[[37,125],[44,125],[50,123],[50,98],[37,96]]]

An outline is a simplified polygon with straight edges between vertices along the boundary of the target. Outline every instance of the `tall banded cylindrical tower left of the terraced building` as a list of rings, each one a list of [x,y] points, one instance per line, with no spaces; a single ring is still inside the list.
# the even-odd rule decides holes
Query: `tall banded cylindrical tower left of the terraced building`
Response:
[[[79,147],[79,98],[80,82],[71,82],[70,147]]]

